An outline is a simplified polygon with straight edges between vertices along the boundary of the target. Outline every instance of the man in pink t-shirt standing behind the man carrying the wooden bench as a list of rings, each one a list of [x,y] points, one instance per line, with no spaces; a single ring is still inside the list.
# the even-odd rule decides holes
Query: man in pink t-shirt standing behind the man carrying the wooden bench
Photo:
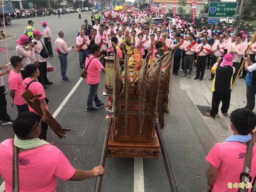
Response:
[[[21,86],[22,86],[22,76],[20,74],[20,69],[23,68],[23,61],[22,58],[19,56],[12,56],[11,57],[11,64],[13,69],[9,73],[9,86],[10,86],[10,96],[12,98],[12,102],[16,105],[18,109],[18,114],[28,111],[28,104],[26,101],[21,97]]]

